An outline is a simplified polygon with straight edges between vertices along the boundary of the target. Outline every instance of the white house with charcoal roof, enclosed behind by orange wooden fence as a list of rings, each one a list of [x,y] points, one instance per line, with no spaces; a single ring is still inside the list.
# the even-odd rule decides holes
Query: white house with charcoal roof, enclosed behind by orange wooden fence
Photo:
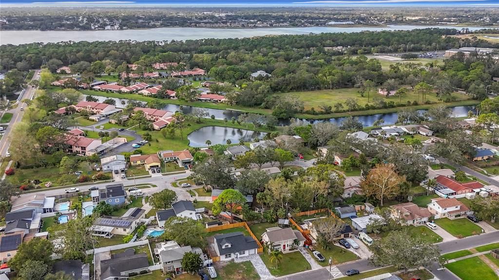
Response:
[[[233,232],[216,235],[213,249],[220,257],[220,261],[230,261],[257,254],[258,244],[252,237],[245,236],[242,232]]]

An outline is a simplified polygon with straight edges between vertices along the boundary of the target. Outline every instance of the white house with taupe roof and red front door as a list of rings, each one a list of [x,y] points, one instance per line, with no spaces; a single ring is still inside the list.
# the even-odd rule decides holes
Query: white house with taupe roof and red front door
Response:
[[[305,242],[305,238],[299,231],[291,228],[281,229],[279,227],[266,229],[266,232],[261,235],[261,240],[272,243],[274,250],[279,250],[283,253],[288,253],[298,247],[302,247]]]

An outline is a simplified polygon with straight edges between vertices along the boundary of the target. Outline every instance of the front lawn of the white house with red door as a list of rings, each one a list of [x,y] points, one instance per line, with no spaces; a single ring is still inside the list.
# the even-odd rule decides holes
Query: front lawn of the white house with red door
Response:
[[[270,255],[262,253],[260,257],[270,271],[270,274],[276,277],[310,270],[310,264],[298,251],[282,254],[282,259],[277,269],[275,268],[275,263],[270,262]]]

